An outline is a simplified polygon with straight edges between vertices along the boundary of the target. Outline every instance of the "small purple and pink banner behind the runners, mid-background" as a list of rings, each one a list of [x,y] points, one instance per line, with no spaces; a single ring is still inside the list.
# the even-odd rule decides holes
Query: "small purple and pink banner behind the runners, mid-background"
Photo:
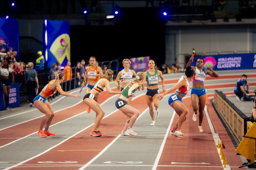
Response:
[[[150,60],[150,57],[137,57],[137,58],[131,58],[131,68],[136,73],[138,71],[145,72],[148,70],[148,61]]]

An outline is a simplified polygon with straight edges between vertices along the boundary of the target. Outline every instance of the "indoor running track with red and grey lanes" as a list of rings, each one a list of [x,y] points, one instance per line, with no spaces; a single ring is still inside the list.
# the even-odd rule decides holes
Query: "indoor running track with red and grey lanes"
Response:
[[[250,93],[256,85],[253,70],[219,71],[218,78],[207,76],[206,89],[209,98],[214,90],[233,94],[241,74],[248,75]],[[172,87],[181,74],[165,75],[166,89]],[[111,87],[115,89],[114,84]],[[79,94],[79,89],[72,93]],[[84,91],[82,91],[84,95]],[[145,91],[138,91],[132,105],[140,111],[133,130],[138,136],[120,136],[126,116],[115,107],[118,95],[106,91],[99,96],[105,111],[100,130],[105,136],[89,135],[95,113],[87,114],[82,98],[59,96],[53,101],[55,117],[50,131],[56,136],[40,138],[36,132],[43,116],[35,108],[13,108],[0,112],[0,170],[223,170],[213,133],[218,133],[224,143],[227,164],[233,170],[242,164],[212,105],[208,102],[209,119],[204,116],[204,133],[199,133],[198,120],[192,121],[190,96],[183,99],[188,108],[187,120],[181,128],[181,138],[168,135],[178,117],[168,105],[166,95],[160,101],[160,116],[156,126],[150,126],[151,118],[145,102]],[[210,125],[213,125],[211,130]]]

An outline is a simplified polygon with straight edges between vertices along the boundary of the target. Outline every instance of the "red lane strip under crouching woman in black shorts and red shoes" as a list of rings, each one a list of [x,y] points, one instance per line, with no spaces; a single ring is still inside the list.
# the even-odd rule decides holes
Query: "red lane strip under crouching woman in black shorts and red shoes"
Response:
[[[137,108],[140,113],[142,113],[146,108],[147,104],[140,105],[140,102],[145,99],[145,96],[140,96],[137,99],[134,99],[132,106]],[[107,136],[102,137],[92,137],[89,136],[91,127],[87,128],[83,132],[77,134],[73,138],[67,140],[66,142],[60,144],[49,152],[32,159],[31,161],[26,162],[16,168],[21,168],[23,166],[29,166],[29,164],[35,164],[37,170],[45,170],[45,167],[42,167],[42,164],[39,164],[38,161],[77,161],[77,164],[86,164],[88,161],[93,159],[101,150],[103,150],[116,136],[121,132],[125,121],[126,116],[121,111],[116,111],[111,116],[102,120],[100,129],[107,133]],[[114,126],[112,126],[114,125]],[[136,125],[136,123],[135,123]],[[111,135],[111,136],[110,136]],[[58,150],[73,150],[73,151],[58,151]],[[79,151],[81,150],[81,151]],[[96,151],[91,151],[96,150]],[[78,154],[79,152],[79,154]],[[63,164],[62,164],[63,165]],[[75,165],[75,164],[74,164]],[[39,167],[40,166],[40,167]],[[31,167],[31,169],[35,169]],[[16,169],[15,168],[15,169]],[[29,167],[24,167],[22,169],[30,169]],[[47,167],[47,170],[77,170],[78,167]]]

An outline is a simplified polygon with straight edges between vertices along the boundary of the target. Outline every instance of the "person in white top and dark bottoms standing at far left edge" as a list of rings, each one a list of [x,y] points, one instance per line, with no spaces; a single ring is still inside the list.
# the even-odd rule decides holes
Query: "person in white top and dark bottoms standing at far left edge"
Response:
[[[9,68],[7,60],[4,60],[3,67],[0,68],[0,77],[2,79],[1,84],[2,84],[2,88],[3,88],[6,110],[11,109],[9,107],[9,94],[10,94],[10,89],[11,89],[11,82],[9,80],[9,76],[12,76],[12,82],[14,83],[14,75],[12,74],[12,70]]]

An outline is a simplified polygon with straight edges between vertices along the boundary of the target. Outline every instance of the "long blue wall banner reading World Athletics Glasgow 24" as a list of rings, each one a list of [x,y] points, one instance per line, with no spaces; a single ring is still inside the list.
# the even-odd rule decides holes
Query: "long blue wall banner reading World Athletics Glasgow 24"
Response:
[[[212,56],[195,56],[191,65],[195,66],[198,58],[204,59],[204,68],[212,67],[213,70],[240,70],[256,69],[256,54],[225,54]]]

